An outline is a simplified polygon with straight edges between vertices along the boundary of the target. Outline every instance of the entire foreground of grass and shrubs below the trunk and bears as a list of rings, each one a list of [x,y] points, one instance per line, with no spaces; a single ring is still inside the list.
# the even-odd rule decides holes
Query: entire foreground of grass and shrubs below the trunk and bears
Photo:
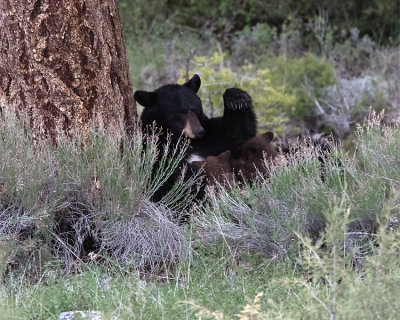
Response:
[[[298,146],[269,177],[210,190],[192,223],[179,226],[168,204],[148,201],[153,143],[121,156],[121,141],[98,133],[85,148],[62,137],[58,148],[33,148],[11,120],[0,126],[4,319],[69,310],[105,319],[395,319],[400,311],[398,124],[372,115],[354,154],[339,146],[328,158],[324,181],[318,148]],[[66,243],[52,227],[60,212],[78,214],[81,224],[66,217],[80,231],[93,219],[109,250],[79,255],[85,233]]]

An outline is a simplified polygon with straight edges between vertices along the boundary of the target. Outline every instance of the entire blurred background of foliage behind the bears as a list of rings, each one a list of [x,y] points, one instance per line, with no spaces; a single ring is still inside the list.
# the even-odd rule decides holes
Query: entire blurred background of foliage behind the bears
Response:
[[[207,115],[222,113],[226,88],[241,87],[253,98],[259,132],[282,136],[343,138],[369,107],[397,108],[396,1],[126,0],[120,6],[135,89],[198,73]],[[384,46],[393,46],[390,57]]]

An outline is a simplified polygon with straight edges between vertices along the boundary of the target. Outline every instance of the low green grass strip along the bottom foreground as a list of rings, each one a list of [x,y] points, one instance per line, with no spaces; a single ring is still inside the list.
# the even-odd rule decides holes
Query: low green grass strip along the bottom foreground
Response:
[[[105,319],[200,319],[200,315],[202,319],[238,319],[240,312],[240,319],[328,319],[332,315],[396,319],[399,244],[398,234],[381,233],[376,254],[367,258],[361,272],[346,265],[346,257],[335,255],[341,252],[339,248],[327,253],[310,244],[298,265],[272,264],[255,256],[237,262],[223,252],[223,246],[208,247],[207,252],[203,248],[190,267],[178,266],[169,279],[141,279],[136,273],[110,267],[93,266],[62,278],[49,270],[43,283],[3,288],[0,301],[6,313],[2,315],[57,319],[67,310],[99,310]],[[218,254],[210,254],[210,249]],[[246,318],[243,313],[250,312],[243,311],[258,293],[263,295],[254,317]]]

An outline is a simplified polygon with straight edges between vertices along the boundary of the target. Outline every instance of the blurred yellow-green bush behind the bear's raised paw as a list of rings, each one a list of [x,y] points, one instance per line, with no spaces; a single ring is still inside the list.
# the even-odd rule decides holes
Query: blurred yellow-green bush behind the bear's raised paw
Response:
[[[290,121],[304,120],[314,112],[313,97],[335,82],[333,66],[323,58],[305,54],[299,59],[279,56],[270,68],[257,69],[246,64],[239,70],[230,67],[226,53],[211,57],[194,57],[194,73],[202,79],[200,97],[205,101],[206,114],[222,114],[222,95],[226,88],[240,87],[248,91],[258,117],[259,131],[285,132]],[[184,70],[181,70],[183,82]]]

